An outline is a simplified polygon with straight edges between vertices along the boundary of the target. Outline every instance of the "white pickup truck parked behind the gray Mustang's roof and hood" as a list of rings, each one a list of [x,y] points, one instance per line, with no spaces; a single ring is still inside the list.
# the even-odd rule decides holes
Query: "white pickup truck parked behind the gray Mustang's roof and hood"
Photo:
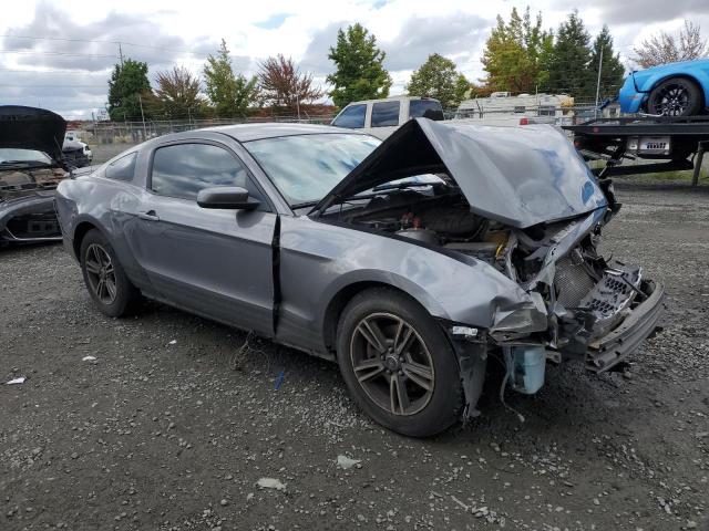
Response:
[[[367,100],[347,105],[331,125],[348,129],[363,129],[384,139],[404,122],[425,117],[443,119],[441,102],[432,97],[394,96],[384,100]]]

